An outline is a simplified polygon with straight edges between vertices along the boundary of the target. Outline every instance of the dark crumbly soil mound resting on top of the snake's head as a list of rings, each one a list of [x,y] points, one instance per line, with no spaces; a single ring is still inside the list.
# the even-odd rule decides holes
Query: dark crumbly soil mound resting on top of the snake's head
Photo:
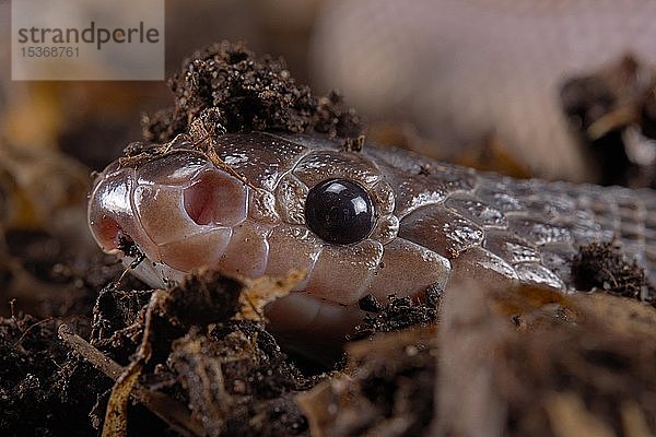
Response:
[[[213,108],[227,132],[278,130],[356,138],[363,122],[337,92],[316,97],[296,84],[282,59],[256,58],[226,42],[195,52],[169,79],[175,106],[142,119],[143,137],[165,143],[188,131],[192,119]]]

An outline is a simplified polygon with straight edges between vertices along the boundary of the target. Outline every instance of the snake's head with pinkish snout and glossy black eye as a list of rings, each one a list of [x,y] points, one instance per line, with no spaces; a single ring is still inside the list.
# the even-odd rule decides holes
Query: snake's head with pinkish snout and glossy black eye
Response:
[[[216,140],[219,160],[178,137],[151,161],[109,165],[89,202],[103,250],[129,263],[121,241],[132,241],[148,259],[134,272],[153,286],[201,267],[249,277],[305,270],[296,293],[268,308],[285,332],[350,329],[367,294],[445,285],[448,261],[398,236],[394,190],[365,155],[309,138]]]

